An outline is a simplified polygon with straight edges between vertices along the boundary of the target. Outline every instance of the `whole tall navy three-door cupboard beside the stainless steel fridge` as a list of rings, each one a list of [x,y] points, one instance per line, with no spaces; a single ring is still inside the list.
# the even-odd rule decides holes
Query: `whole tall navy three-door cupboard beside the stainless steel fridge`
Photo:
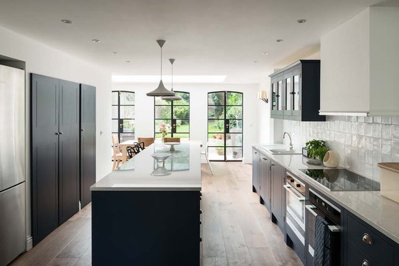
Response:
[[[85,205],[90,202],[87,188],[90,181],[83,182],[84,186],[80,185],[81,164],[83,160],[83,172],[88,172],[87,176],[95,176],[95,161],[87,160],[95,160],[95,129],[93,131],[93,125],[87,122],[87,131],[92,140],[84,135],[83,142],[87,144],[83,154],[89,155],[81,156],[81,87],[85,92],[85,85],[31,74],[33,245],[79,211],[82,190],[87,190],[84,195],[89,194],[89,197],[84,197]],[[87,87],[90,87],[87,90],[93,91],[93,87]],[[88,121],[88,116],[95,116],[95,107],[93,113],[93,106],[90,106],[95,106],[95,96],[94,102],[93,96],[85,98],[83,109],[87,115],[83,121]],[[93,179],[92,176],[90,178]]]

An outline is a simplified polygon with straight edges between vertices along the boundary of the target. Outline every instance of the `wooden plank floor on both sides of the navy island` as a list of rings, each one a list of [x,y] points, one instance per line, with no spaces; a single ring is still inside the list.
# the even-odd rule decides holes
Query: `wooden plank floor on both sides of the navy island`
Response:
[[[203,264],[302,265],[252,192],[251,165],[202,165]],[[91,205],[11,265],[91,265]]]

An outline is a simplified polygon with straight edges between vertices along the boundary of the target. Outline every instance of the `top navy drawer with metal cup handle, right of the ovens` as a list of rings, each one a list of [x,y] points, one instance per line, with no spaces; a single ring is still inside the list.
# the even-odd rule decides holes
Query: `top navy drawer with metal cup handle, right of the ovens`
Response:
[[[348,215],[347,232],[348,240],[371,259],[381,265],[393,265],[393,247],[350,215]],[[363,240],[364,237],[371,239],[371,245]],[[349,241],[348,246],[350,244]],[[351,256],[352,254],[348,250],[348,260]]]

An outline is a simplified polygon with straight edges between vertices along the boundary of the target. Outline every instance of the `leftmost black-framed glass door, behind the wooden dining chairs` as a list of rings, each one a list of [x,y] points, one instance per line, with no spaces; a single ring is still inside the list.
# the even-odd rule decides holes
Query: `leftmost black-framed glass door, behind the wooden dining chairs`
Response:
[[[112,134],[118,134],[119,142],[136,138],[134,92],[112,92]]]

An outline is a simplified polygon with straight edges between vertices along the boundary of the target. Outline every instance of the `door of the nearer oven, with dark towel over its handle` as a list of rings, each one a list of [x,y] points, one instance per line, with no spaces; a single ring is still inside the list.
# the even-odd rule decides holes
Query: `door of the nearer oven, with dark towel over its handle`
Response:
[[[329,224],[328,229],[330,231],[330,258],[332,261],[330,265],[340,264],[340,227],[335,225],[323,212],[317,209],[314,205],[306,205],[307,222],[306,222],[306,238],[307,238],[307,265],[313,265],[313,258],[315,255],[315,231],[316,231],[316,218],[321,216]]]

